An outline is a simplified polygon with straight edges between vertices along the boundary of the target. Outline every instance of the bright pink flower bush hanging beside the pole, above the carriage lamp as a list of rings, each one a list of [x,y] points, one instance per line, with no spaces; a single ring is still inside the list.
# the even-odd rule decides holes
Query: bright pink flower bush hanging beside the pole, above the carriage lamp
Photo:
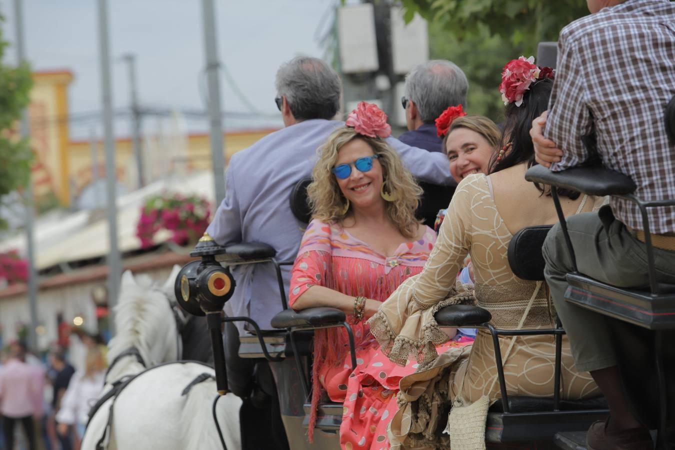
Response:
[[[146,200],[136,224],[136,236],[142,248],[155,244],[160,229],[173,233],[171,240],[184,245],[196,242],[209,226],[211,204],[200,196],[164,193]]]

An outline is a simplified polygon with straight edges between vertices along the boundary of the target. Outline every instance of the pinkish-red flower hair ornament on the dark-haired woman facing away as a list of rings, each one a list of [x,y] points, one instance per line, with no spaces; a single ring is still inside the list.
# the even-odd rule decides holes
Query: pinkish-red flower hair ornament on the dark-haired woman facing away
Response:
[[[531,84],[545,78],[553,79],[551,67],[539,67],[535,64],[535,57],[512,59],[504,66],[502,83],[499,84],[499,92],[502,92],[504,105],[516,103],[522,105],[522,96],[529,90]]]

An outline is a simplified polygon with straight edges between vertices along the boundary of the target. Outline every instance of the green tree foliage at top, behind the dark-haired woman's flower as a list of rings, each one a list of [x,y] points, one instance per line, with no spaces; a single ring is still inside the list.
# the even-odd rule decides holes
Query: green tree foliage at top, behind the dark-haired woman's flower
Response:
[[[588,13],[585,0],[402,0],[405,18],[429,22],[429,54],[449,59],[469,80],[468,113],[502,120],[502,68]]]

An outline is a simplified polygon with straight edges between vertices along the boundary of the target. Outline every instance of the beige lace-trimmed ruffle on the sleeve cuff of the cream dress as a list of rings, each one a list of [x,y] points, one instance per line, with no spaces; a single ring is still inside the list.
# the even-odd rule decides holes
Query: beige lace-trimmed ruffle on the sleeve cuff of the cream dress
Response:
[[[381,350],[391,362],[405,367],[408,360],[412,357],[418,363],[416,372],[425,370],[431,366],[438,358],[436,351],[437,345],[441,345],[450,340],[445,331],[438,326],[433,314],[441,308],[456,304],[474,304],[475,298],[470,294],[457,295],[452,298],[441,300],[431,307],[431,321],[422,328],[422,335],[419,340],[412,339],[403,335],[396,335],[387,316],[381,312],[376,312],[369,325],[371,326],[371,334],[379,343]]]

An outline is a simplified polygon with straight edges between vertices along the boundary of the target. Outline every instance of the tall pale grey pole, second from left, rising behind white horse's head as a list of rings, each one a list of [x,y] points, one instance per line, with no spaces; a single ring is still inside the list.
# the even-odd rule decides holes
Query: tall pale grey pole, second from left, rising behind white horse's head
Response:
[[[99,0],[99,62],[101,63],[101,106],[103,107],[103,142],[105,150],[105,187],[108,213],[108,308],[113,314],[117,304],[119,281],[121,279],[121,261],[117,246],[117,166],[115,165],[115,134],[113,132],[113,88],[110,74],[110,49],[108,33],[107,0]],[[111,318],[110,327],[114,335],[115,320]]]

